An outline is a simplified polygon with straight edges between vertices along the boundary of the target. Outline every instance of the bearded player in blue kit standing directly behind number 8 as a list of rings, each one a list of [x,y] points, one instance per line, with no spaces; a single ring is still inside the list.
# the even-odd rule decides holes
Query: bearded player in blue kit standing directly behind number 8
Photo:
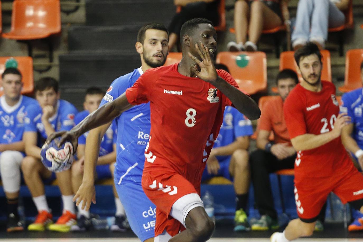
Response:
[[[138,33],[136,51],[141,57],[141,67],[117,78],[107,90],[101,105],[110,102],[131,87],[144,71],[162,66],[168,54],[168,30],[161,24],[144,25]],[[146,197],[141,177],[144,152],[150,134],[150,103],[134,106],[115,119],[117,124],[117,158],[114,173],[115,186],[125,208],[131,229],[141,241],[154,241],[156,206]],[[109,124],[95,128],[87,136],[83,183],[77,194],[92,189],[87,181],[94,181],[94,168],[98,158],[95,152]],[[100,136],[99,136],[100,135]],[[93,152],[91,152],[93,151]],[[95,197],[94,197],[95,202]],[[89,209],[89,204],[82,207]]]

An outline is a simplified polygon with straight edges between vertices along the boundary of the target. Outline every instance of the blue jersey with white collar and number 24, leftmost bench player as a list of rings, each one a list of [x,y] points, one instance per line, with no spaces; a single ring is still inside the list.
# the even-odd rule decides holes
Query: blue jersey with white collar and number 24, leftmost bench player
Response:
[[[21,95],[19,102],[9,106],[5,101],[5,95],[0,98],[0,143],[9,144],[23,140],[24,118],[27,115],[28,106],[36,105],[38,102]]]

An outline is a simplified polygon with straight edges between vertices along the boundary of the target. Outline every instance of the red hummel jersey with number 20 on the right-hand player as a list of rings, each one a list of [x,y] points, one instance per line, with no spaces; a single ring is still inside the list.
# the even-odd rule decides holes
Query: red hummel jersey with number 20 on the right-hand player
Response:
[[[324,134],[333,130],[339,114],[335,86],[322,81],[322,90],[313,92],[300,84],[284,102],[284,116],[290,139],[303,134]],[[340,136],[315,149],[297,152],[295,178],[327,177],[350,166],[351,161]]]

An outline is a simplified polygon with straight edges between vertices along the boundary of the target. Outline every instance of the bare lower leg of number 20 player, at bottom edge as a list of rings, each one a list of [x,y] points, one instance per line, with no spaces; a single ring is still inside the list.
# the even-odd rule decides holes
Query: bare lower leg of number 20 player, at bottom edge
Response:
[[[305,223],[299,218],[291,220],[285,228],[285,237],[288,240],[294,240],[299,237],[306,237],[313,235],[315,222]]]

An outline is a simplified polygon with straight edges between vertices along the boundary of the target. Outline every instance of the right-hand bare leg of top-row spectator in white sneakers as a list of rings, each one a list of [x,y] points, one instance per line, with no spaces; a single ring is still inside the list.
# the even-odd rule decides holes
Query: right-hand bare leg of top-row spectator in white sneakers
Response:
[[[249,41],[254,44],[257,44],[263,29],[272,29],[282,24],[280,16],[261,1],[252,2],[250,15]]]

